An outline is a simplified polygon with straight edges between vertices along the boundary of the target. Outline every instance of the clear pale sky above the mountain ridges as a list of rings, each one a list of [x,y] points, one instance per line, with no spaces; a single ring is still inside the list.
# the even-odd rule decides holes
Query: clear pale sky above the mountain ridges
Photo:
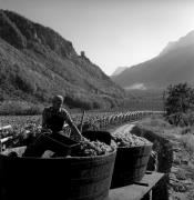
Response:
[[[194,0],[0,0],[0,8],[52,28],[108,76],[194,30]]]

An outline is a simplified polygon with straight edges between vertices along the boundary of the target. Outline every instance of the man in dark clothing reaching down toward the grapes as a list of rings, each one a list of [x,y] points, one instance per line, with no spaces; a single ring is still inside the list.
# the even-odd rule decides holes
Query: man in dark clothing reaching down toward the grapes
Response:
[[[22,157],[41,157],[45,150],[59,149],[59,133],[62,131],[64,122],[71,128],[70,138],[80,141],[81,132],[73,123],[69,112],[62,108],[63,97],[54,96],[52,106],[44,108],[42,112],[42,133],[37,138],[35,142],[27,147]]]

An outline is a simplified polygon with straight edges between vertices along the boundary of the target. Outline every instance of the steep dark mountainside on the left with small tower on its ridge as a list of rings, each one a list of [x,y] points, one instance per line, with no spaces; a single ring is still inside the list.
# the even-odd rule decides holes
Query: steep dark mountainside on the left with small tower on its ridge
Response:
[[[58,32],[0,10],[0,101],[49,102],[55,93],[65,96],[70,107],[83,108],[113,107],[125,97]]]

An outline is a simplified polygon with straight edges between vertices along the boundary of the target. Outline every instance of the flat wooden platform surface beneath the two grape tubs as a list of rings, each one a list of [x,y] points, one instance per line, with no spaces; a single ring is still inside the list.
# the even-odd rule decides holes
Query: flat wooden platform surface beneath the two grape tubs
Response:
[[[149,193],[163,177],[164,173],[152,172],[151,174],[145,174],[140,181],[140,184],[111,189],[108,200],[140,200]]]

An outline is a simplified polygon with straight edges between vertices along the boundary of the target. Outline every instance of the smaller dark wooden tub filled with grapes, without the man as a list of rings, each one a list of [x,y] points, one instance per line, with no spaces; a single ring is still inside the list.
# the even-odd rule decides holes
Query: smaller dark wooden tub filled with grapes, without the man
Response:
[[[145,174],[152,143],[118,148],[111,188],[124,187],[140,181]]]

